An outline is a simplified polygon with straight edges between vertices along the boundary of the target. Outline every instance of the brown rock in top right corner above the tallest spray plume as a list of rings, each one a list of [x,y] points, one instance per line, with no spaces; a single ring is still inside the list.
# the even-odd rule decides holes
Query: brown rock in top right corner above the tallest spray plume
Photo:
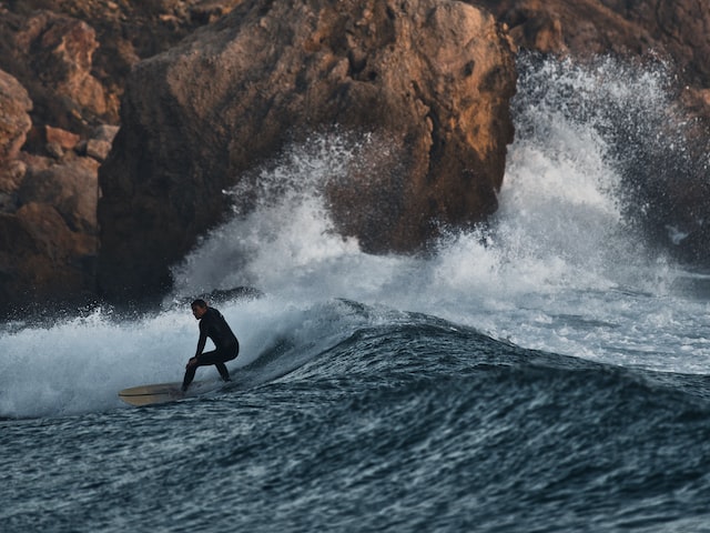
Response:
[[[687,82],[710,87],[710,9],[701,0],[477,0],[541,52],[660,54]]]

